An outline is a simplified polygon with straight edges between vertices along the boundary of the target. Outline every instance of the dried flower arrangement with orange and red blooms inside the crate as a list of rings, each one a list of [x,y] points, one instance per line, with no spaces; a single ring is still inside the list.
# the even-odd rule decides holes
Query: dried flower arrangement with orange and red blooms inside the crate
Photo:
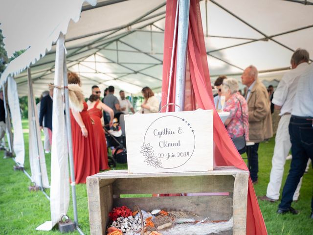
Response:
[[[146,212],[139,208],[138,211],[132,212],[127,207],[114,208],[110,218],[115,220],[108,229],[108,235],[209,235],[233,227],[232,218],[228,221],[209,221],[208,218],[197,221],[197,215],[184,211]]]

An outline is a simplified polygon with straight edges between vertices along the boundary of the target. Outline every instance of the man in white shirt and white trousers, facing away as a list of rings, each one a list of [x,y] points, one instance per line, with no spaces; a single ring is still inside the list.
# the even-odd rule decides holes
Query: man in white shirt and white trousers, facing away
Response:
[[[289,155],[291,141],[289,135],[289,122],[291,118],[292,103],[296,94],[297,83],[303,72],[309,67],[309,52],[298,48],[291,57],[291,71],[284,74],[274,93],[272,103],[275,109],[280,110],[281,116],[275,137],[272,168],[270,171],[269,183],[266,196],[259,197],[261,200],[275,202],[279,199],[279,190],[282,184],[284,166]],[[293,195],[293,201],[297,201],[301,181]]]

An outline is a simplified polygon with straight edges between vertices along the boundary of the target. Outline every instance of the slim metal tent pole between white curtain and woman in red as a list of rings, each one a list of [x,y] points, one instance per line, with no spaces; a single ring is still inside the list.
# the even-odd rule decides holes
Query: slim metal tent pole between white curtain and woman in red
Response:
[[[63,84],[64,84],[64,97],[65,97],[65,117],[66,117],[66,127],[67,127],[67,142],[68,142],[68,157],[69,157],[69,168],[70,168],[70,179],[71,179],[71,189],[72,189],[72,201],[74,210],[74,222],[76,227],[78,227],[78,214],[77,214],[77,202],[76,202],[76,185],[75,185],[75,173],[74,173],[74,159],[73,159],[73,143],[72,143],[72,130],[70,125],[69,116],[69,101],[68,101],[68,87],[67,87],[67,62],[66,55],[64,53],[63,60]],[[79,230],[78,230],[79,231]]]

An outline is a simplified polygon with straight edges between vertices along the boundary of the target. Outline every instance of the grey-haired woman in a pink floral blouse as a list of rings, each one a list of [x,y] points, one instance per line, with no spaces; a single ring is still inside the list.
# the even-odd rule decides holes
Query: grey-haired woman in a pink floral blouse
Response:
[[[222,95],[225,95],[224,112],[230,112],[224,124],[230,138],[245,135],[249,140],[248,105],[244,96],[239,94],[238,81],[227,78],[223,81]]]

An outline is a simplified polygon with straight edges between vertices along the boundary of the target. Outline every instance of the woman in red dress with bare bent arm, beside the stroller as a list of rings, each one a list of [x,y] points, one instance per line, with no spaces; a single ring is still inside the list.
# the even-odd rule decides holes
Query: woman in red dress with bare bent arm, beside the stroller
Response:
[[[89,106],[88,106],[88,112],[90,117],[93,119],[94,124],[93,124],[93,134],[94,134],[94,139],[96,142],[96,147],[98,151],[98,157],[97,161],[100,164],[100,169],[101,170],[106,170],[109,169],[108,165],[108,148],[107,148],[107,142],[106,142],[106,137],[104,134],[104,129],[102,128],[102,111],[104,110],[105,112],[110,114],[110,126],[112,126],[113,118],[114,118],[114,112],[113,110],[102,103],[99,99],[99,96],[95,94],[91,94],[89,97]]]

